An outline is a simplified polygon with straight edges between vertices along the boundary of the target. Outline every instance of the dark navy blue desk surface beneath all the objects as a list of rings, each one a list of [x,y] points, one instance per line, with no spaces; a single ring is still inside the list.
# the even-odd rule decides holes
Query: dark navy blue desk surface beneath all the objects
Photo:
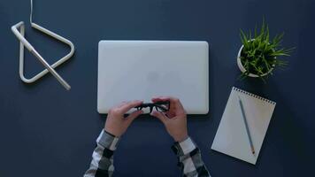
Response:
[[[311,0],[36,1],[35,22],[73,41],[75,56],[58,68],[65,91],[49,74],[19,80],[19,42],[10,27],[27,22],[27,38],[50,63],[68,49],[28,24],[29,1],[0,2],[0,176],[81,176],[88,168],[104,115],[96,112],[97,42],[101,39],[210,42],[209,115],[189,116],[188,128],[213,176],[306,176],[315,148],[315,2]],[[296,46],[289,65],[267,84],[237,81],[239,29],[265,16],[271,32]],[[26,52],[26,73],[42,65]],[[232,86],[277,102],[257,165],[211,150]],[[129,127],[115,154],[116,176],[179,176],[173,141],[156,119]],[[309,174],[311,175],[311,174]]]

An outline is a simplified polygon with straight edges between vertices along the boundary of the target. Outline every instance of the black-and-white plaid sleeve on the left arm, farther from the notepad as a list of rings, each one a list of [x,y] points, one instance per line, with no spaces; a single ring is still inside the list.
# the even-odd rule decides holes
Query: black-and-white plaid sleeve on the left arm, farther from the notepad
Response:
[[[92,161],[84,177],[112,176],[114,172],[113,153],[116,150],[119,138],[102,130],[96,140],[96,149]]]

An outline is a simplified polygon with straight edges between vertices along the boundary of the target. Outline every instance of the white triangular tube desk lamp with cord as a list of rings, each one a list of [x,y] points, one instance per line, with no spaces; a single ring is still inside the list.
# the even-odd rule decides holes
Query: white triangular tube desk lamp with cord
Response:
[[[20,79],[26,83],[32,83],[42,78],[42,76],[44,76],[46,73],[50,72],[61,83],[61,85],[65,87],[65,89],[67,90],[71,89],[71,86],[55,71],[54,68],[58,67],[58,65],[65,63],[66,60],[73,57],[73,53],[74,53],[73,42],[33,22],[33,0],[31,0],[31,14],[29,17],[29,21],[31,23],[31,27],[34,27],[35,29],[41,31],[42,33],[46,35],[49,35],[50,37],[57,39],[60,42],[64,42],[65,44],[69,45],[71,50],[68,54],[65,55],[65,57],[60,58],[53,65],[48,64],[48,62],[44,58],[42,58],[42,56],[35,50],[35,48],[24,37],[25,25],[23,21],[20,21],[18,24],[12,26],[13,34],[16,35],[17,38],[19,39],[19,77]],[[41,73],[37,73],[33,78],[30,78],[30,79],[27,79],[24,76],[24,47],[26,47],[27,50],[29,50],[42,63],[42,65],[46,67],[46,69],[44,69]]]

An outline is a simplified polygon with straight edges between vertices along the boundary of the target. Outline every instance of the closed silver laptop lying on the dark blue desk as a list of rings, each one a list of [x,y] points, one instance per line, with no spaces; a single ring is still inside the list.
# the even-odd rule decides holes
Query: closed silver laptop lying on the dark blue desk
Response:
[[[100,41],[97,111],[175,96],[188,114],[209,112],[209,45],[203,41]]]

